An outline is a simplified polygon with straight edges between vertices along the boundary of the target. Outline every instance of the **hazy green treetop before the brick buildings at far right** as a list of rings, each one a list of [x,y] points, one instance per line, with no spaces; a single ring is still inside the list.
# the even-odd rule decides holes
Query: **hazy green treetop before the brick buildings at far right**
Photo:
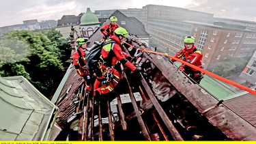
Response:
[[[248,61],[240,57],[229,57],[225,61],[210,64],[208,70],[218,74],[219,76],[227,77],[236,75],[246,67]]]

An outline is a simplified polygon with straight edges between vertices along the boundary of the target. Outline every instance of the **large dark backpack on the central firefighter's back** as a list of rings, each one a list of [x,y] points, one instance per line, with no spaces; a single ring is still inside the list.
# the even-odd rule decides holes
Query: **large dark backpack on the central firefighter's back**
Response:
[[[86,68],[89,72],[94,72],[98,68],[98,61],[100,60],[101,49],[104,45],[115,43],[113,40],[94,42],[94,45],[85,51]]]

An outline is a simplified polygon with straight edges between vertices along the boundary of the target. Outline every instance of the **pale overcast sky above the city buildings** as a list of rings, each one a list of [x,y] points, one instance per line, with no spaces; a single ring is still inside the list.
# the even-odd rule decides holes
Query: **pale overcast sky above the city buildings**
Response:
[[[8,0],[1,1],[0,27],[23,24],[23,20],[58,20],[95,10],[142,8],[167,5],[214,14],[214,17],[256,21],[254,0]]]

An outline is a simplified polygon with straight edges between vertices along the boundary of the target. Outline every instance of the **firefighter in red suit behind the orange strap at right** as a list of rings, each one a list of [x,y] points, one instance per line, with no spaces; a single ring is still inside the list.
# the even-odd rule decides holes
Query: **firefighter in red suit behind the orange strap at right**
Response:
[[[186,36],[184,38],[184,46],[184,48],[176,53],[175,57],[178,59],[183,59],[184,61],[191,63],[199,68],[203,68],[201,63],[203,54],[201,51],[197,50],[195,46],[195,38],[193,36]],[[174,62],[175,60],[172,59],[171,61]],[[188,74],[197,83],[200,83],[201,78],[203,78],[203,74],[201,74],[200,71],[195,70],[194,68],[190,68],[185,64],[182,64],[179,69]]]

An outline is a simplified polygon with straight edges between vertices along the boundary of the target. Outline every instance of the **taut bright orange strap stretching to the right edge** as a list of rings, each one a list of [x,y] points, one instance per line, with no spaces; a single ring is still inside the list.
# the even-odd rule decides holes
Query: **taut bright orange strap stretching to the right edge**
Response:
[[[240,88],[240,89],[243,89],[244,91],[248,91],[249,93],[252,93],[252,94],[256,95],[256,91],[253,90],[253,89],[250,89],[250,88],[248,88],[248,87],[244,87],[244,85],[240,85],[240,84],[238,84],[238,83],[235,83],[235,82],[233,82],[233,81],[228,80],[227,78],[223,78],[223,77],[221,77],[221,76],[218,76],[217,74],[214,74],[214,73],[212,73],[212,72],[209,72],[208,70],[204,70],[204,69],[202,69],[202,68],[199,68],[199,67],[197,67],[197,66],[194,66],[194,65],[192,65],[192,64],[190,64],[190,63],[188,63],[188,62],[186,62],[186,61],[183,61],[182,59],[177,59],[176,57],[173,57],[173,56],[171,56],[171,55],[168,55],[167,53],[159,53],[159,52],[156,52],[156,51],[148,51],[148,50],[145,50],[145,49],[140,49],[140,50],[141,50],[141,51],[144,51],[144,52],[148,52],[148,53],[155,53],[155,54],[158,54],[158,55],[165,55],[165,56],[167,56],[167,57],[169,57],[169,58],[171,58],[171,59],[174,59],[175,61],[179,61],[179,62],[181,62],[181,63],[186,64],[186,66],[190,66],[191,68],[195,68],[196,70],[199,70],[200,72],[203,72],[203,73],[205,73],[205,74],[208,74],[209,76],[212,76],[212,77],[214,77],[214,78],[217,78],[218,80],[224,81],[225,83],[229,83],[230,85],[233,85],[233,86],[235,86],[235,87],[238,87],[238,88]]]

